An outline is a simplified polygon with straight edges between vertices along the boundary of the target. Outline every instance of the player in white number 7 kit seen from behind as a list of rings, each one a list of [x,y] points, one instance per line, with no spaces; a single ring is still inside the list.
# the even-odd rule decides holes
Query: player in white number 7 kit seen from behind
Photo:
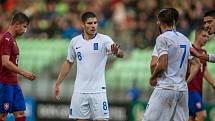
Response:
[[[143,121],[187,121],[188,89],[186,72],[190,55],[189,40],[174,29],[174,8],[162,9],[157,24],[161,34],[156,39],[158,63],[150,78],[155,89]],[[178,15],[178,12],[177,12]]]

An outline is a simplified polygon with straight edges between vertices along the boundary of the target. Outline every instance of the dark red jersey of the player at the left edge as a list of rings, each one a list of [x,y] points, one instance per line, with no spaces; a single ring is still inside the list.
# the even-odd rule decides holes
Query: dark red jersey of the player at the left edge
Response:
[[[18,66],[19,48],[15,38],[6,32],[2,35],[0,40],[0,56],[9,55],[9,60]],[[2,66],[2,59],[0,59],[0,82],[6,84],[17,84],[17,74]]]

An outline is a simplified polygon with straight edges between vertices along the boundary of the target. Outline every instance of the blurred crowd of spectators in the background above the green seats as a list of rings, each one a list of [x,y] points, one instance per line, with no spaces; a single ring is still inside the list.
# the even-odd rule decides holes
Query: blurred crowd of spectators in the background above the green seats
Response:
[[[1,0],[0,4],[0,33],[11,13],[21,10],[32,19],[26,37],[69,40],[81,33],[81,13],[93,11],[99,29],[112,35],[125,50],[153,46],[158,34],[156,14],[161,8],[180,11],[178,31],[188,36],[204,11],[215,7],[214,0]]]

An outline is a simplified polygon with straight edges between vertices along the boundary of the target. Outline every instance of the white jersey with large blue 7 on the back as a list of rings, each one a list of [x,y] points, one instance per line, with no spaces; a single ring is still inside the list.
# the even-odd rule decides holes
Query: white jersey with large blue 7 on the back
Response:
[[[187,37],[175,30],[169,30],[156,39],[156,50],[153,55],[158,58],[168,54],[168,66],[164,74],[158,78],[156,88],[186,91],[186,73],[190,56],[190,43]]]

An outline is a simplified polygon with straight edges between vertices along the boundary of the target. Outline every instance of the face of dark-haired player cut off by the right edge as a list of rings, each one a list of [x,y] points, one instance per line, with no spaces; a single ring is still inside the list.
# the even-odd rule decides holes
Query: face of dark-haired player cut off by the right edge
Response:
[[[211,17],[211,16],[204,17],[204,26],[210,35],[214,34],[215,33],[215,18]]]

